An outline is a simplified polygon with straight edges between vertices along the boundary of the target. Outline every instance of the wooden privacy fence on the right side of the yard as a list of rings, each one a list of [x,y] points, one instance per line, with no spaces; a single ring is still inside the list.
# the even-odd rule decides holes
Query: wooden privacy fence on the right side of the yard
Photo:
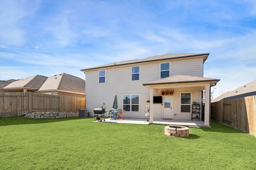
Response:
[[[212,103],[211,117],[236,129],[256,135],[256,96]]]

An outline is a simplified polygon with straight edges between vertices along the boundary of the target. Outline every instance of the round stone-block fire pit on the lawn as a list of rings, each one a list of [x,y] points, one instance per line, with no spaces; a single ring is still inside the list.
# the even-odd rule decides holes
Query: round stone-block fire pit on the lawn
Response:
[[[168,136],[187,137],[189,135],[189,128],[171,125],[164,128],[164,133]]]

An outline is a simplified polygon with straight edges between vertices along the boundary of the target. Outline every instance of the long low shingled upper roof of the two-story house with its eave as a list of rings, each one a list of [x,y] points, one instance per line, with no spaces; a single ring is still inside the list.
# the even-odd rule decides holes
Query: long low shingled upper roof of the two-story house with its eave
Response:
[[[182,59],[182,58],[199,57],[199,56],[202,56],[203,61],[206,61],[209,54],[210,53],[205,53],[205,54],[165,54],[165,55],[156,55],[156,56],[148,57],[148,58],[144,58],[144,59],[121,61],[121,62],[105,64],[105,65],[101,65],[101,66],[86,68],[86,69],[83,69],[81,71],[93,70],[93,69],[98,69],[98,68],[113,67],[113,66],[122,66],[122,65],[128,65],[128,64],[148,63],[148,62],[153,62],[153,61],[164,61],[164,60],[170,60],[170,59]]]

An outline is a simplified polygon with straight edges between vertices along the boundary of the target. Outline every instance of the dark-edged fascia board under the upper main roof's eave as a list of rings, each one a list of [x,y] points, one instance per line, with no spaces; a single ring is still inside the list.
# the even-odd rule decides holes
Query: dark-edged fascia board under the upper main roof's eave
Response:
[[[84,72],[84,71],[87,71],[87,70],[96,70],[96,69],[100,69],[100,68],[108,68],[108,67],[114,67],[114,66],[123,66],[123,65],[139,64],[139,63],[150,63],[150,62],[155,62],[155,61],[165,61],[165,60],[174,60],[174,59],[183,59],[183,58],[188,58],[188,57],[199,57],[199,56],[204,56],[204,55],[206,55],[206,59],[207,59],[209,54],[210,53],[205,53],[205,54],[199,54],[199,55],[188,55],[188,56],[173,57],[173,58],[167,58],[167,59],[155,59],[155,60],[150,60],[150,61],[138,61],[138,62],[133,62],[133,63],[116,64],[116,65],[110,65],[110,66],[98,66],[98,67],[94,67],[94,68],[82,69],[80,71]]]

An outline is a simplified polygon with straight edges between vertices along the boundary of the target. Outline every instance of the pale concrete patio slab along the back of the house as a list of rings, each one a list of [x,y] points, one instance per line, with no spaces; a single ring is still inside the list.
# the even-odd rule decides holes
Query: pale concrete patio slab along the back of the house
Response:
[[[110,120],[110,118],[105,119],[105,121],[95,121],[100,123],[128,123],[128,124],[140,124],[140,125],[148,125],[149,122],[145,121],[143,118],[125,118],[124,120]],[[198,127],[211,127],[205,126],[203,121],[198,120],[164,120],[164,119],[154,119],[154,123],[156,125],[181,125],[181,126],[198,126]]]

